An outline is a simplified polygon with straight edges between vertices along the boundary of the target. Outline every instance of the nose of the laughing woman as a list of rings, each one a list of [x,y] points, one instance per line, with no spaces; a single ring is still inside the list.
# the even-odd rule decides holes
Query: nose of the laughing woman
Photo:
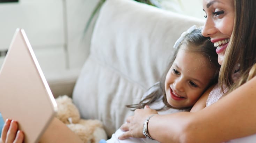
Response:
[[[215,24],[211,18],[206,18],[202,29],[202,35],[205,37],[210,37],[217,32]]]

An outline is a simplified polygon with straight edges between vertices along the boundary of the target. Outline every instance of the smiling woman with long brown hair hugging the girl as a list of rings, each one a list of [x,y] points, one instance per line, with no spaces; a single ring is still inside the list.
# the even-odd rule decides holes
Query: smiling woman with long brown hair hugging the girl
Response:
[[[255,7],[255,0],[203,0],[206,22],[202,34],[217,46],[219,85],[230,93],[198,112],[153,116],[148,121],[148,134],[153,139],[209,143],[256,134],[256,77],[244,83],[256,62]],[[232,75],[237,71],[241,79],[234,83]],[[136,110],[127,119],[128,124],[122,125],[127,132],[120,139],[143,137],[143,123],[155,113],[151,109]]]

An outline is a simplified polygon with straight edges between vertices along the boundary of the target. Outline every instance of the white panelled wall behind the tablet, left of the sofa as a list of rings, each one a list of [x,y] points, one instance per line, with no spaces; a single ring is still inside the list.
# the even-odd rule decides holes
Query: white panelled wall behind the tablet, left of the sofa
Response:
[[[62,88],[64,94],[70,81],[75,84],[89,54],[92,26],[86,34],[83,30],[97,2],[20,0],[0,3],[0,51],[8,49],[16,28],[23,28],[48,83],[53,89]],[[1,56],[0,66],[3,59]],[[61,87],[55,86],[59,83],[63,83]]]

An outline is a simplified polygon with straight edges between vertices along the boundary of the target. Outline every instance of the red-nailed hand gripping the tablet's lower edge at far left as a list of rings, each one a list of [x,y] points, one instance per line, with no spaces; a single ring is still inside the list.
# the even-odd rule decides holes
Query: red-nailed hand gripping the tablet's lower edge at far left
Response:
[[[18,130],[17,121],[6,119],[2,129],[0,143],[22,143],[23,140],[24,133]]]

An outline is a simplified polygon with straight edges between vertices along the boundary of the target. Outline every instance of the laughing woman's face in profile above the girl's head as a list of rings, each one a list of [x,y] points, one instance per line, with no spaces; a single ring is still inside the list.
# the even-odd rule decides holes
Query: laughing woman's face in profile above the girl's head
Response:
[[[210,37],[217,47],[218,62],[221,65],[234,26],[234,0],[203,0],[206,22],[202,35]]]

